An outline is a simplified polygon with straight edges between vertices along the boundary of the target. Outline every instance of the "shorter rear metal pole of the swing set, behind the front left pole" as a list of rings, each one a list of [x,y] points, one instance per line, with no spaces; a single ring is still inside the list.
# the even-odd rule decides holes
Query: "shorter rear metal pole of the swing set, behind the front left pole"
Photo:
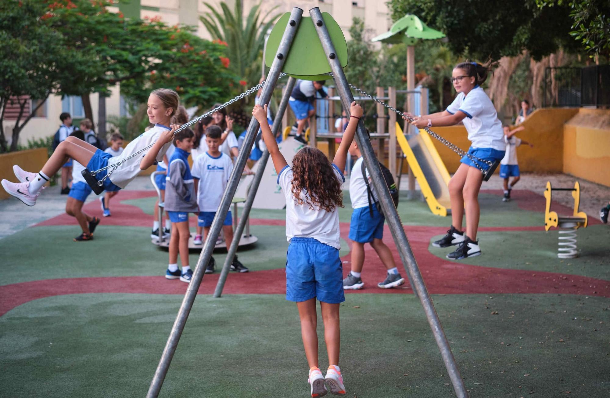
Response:
[[[290,93],[292,93],[292,89],[295,87],[296,79],[290,76],[288,79],[288,83],[286,84],[286,90],[284,95],[282,95],[282,101],[279,104],[278,112],[275,115],[275,119],[273,120],[273,128],[271,132],[273,132],[273,136],[275,137],[278,134],[279,129],[282,125],[282,117],[284,117],[284,112],[286,107],[288,106],[288,100],[290,98]],[[260,103],[261,105],[264,103]],[[242,146],[242,148],[244,148]],[[254,203],[254,198],[256,197],[256,192],[259,190],[260,180],[262,179],[263,174],[265,173],[265,166],[267,165],[267,161],[269,160],[269,151],[265,149],[262,156],[259,160],[259,165],[256,169],[256,174],[254,175],[254,179],[250,184],[250,188],[248,191],[248,198],[246,198],[246,203],[243,206],[242,218],[239,219],[239,224],[237,228],[235,228],[234,239],[231,242],[231,247],[227,252],[227,258],[224,260],[223,269],[220,272],[220,277],[218,278],[218,283],[216,284],[216,289],[214,291],[214,297],[218,298],[221,294],[223,294],[224,283],[226,282],[227,275],[229,274],[229,267],[231,266],[231,262],[233,261],[233,257],[237,252],[237,247],[239,246],[239,240],[242,237],[243,229],[248,222],[248,217],[250,215],[250,210],[252,209],[252,204]]]

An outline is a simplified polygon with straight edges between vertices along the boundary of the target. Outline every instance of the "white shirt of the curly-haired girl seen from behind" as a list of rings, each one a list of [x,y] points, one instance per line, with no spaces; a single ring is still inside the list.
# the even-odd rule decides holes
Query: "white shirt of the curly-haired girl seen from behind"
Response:
[[[345,182],[343,173],[336,165],[332,165],[339,183]],[[291,241],[293,237],[312,237],[323,244],[340,249],[339,237],[339,208],[328,212],[325,209],[310,209],[309,204],[297,204],[292,194],[292,168],[287,165],[278,175],[278,184],[284,191],[286,198],[286,238]],[[301,190],[301,198],[307,192]]]

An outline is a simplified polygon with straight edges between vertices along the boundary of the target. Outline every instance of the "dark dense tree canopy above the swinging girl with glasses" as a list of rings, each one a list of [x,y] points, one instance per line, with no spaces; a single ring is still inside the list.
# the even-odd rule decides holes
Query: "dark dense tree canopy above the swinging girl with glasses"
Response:
[[[560,47],[576,50],[567,27],[571,19],[561,7],[540,9],[532,1],[390,0],[392,19],[412,13],[447,35],[455,54],[479,62],[497,61],[527,50],[540,60]]]

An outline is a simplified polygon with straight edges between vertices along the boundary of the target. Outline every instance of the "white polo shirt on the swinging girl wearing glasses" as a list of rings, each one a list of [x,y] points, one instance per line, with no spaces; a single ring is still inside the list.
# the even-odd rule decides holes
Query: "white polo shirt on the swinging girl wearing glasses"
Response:
[[[473,147],[493,148],[498,151],[506,149],[504,131],[502,123],[498,119],[498,112],[479,85],[470,90],[468,95],[459,93],[447,107],[447,112],[452,115],[459,110],[466,114],[462,121],[468,131],[468,140],[472,142]]]

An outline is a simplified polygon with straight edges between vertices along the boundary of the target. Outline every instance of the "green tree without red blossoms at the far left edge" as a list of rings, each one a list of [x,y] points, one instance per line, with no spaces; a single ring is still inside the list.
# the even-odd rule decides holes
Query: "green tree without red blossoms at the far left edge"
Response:
[[[79,62],[62,45],[61,35],[44,20],[45,5],[39,1],[0,2],[0,151],[9,150],[4,134],[7,106],[17,104],[19,114],[12,132],[10,150],[18,149],[19,133],[48,96],[68,77],[66,60]],[[38,99],[29,114],[30,98]]]

